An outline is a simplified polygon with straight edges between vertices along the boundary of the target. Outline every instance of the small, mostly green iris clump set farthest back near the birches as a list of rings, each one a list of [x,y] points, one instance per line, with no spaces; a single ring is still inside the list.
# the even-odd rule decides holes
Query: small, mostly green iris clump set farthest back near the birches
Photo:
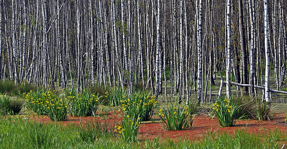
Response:
[[[110,100],[110,104],[113,106],[119,106],[121,101],[125,99],[125,95],[127,95],[127,89],[112,87],[110,93],[106,92],[105,98]]]

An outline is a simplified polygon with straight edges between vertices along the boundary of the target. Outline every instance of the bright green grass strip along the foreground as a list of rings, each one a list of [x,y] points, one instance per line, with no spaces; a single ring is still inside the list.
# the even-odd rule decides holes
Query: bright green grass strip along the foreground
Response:
[[[115,124],[115,123],[114,123]],[[156,137],[126,142],[113,132],[114,124],[80,123],[63,126],[59,123],[41,123],[19,118],[0,121],[0,148],[281,148],[286,144],[286,132],[278,129],[259,134],[245,128],[233,134],[206,130],[203,137],[168,139]],[[191,130],[192,131],[192,130]],[[147,138],[146,136],[145,138]]]

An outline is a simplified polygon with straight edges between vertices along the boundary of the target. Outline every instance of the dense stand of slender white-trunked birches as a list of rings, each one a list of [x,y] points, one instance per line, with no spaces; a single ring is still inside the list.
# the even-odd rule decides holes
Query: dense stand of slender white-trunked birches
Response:
[[[285,0],[0,1],[3,81],[183,103],[287,93]]]

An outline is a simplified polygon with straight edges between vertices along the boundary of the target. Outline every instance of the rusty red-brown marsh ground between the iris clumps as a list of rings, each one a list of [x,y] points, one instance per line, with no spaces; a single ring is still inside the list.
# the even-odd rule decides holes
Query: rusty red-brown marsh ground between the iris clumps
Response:
[[[69,116],[68,121],[64,122],[57,122],[60,124],[63,124],[64,126],[67,126],[67,124],[79,124],[80,121],[82,123],[85,122],[92,122],[92,121],[108,121],[111,124],[111,127],[114,126],[115,123],[120,123],[121,117],[119,116],[119,113],[116,114],[108,114],[109,118],[103,118],[103,117],[75,117],[75,116]],[[179,131],[168,131],[165,130],[162,127],[161,123],[157,123],[159,120],[158,117],[153,116],[153,119],[156,119],[155,123],[143,123],[140,125],[140,133],[139,138],[146,138],[152,139],[154,137],[166,139],[166,138],[180,138],[180,137],[188,137],[189,139],[197,139],[203,136],[207,131],[216,130],[217,132],[228,132],[230,134],[233,134],[236,129],[241,129],[245,127],[245,130],[249,132],[254,133],[262,133],[262,132],[269,132],[273,131],[274,129],[278,128],[281,132],[286,133],[287,132],[287,126],[285,125],[284,116],[286,114],[276,114],[274,120],[272,121],[258,121],[258,120],[241,120],[236,123],[235,127],[220,127],[217,119],[209,119],[209,117],[205,117],[205,115],[197,115],[195,116],[193,127],[189,129],[179,130]],[[38,120],[38,116],[29,116],[29,119],[35,119]],[[44,123],[55,123],[51,122],[51,120],[44,116],[40,118],[41,121],[44,121]]]

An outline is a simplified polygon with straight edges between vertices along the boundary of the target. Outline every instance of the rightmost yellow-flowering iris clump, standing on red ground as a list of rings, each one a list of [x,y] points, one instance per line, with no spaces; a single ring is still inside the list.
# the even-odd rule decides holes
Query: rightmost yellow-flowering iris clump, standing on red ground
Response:
[[[212,106],[212,110],[221,127],[232,127],[235,125],[238,119],[234,120],[234,118],[241,105],[236,105],[235,101],[232,98],[227,98],[227,96],[218,96],[217,102]],[[239,117],[239,119],[242,119],[243,117],[244,115]]]

